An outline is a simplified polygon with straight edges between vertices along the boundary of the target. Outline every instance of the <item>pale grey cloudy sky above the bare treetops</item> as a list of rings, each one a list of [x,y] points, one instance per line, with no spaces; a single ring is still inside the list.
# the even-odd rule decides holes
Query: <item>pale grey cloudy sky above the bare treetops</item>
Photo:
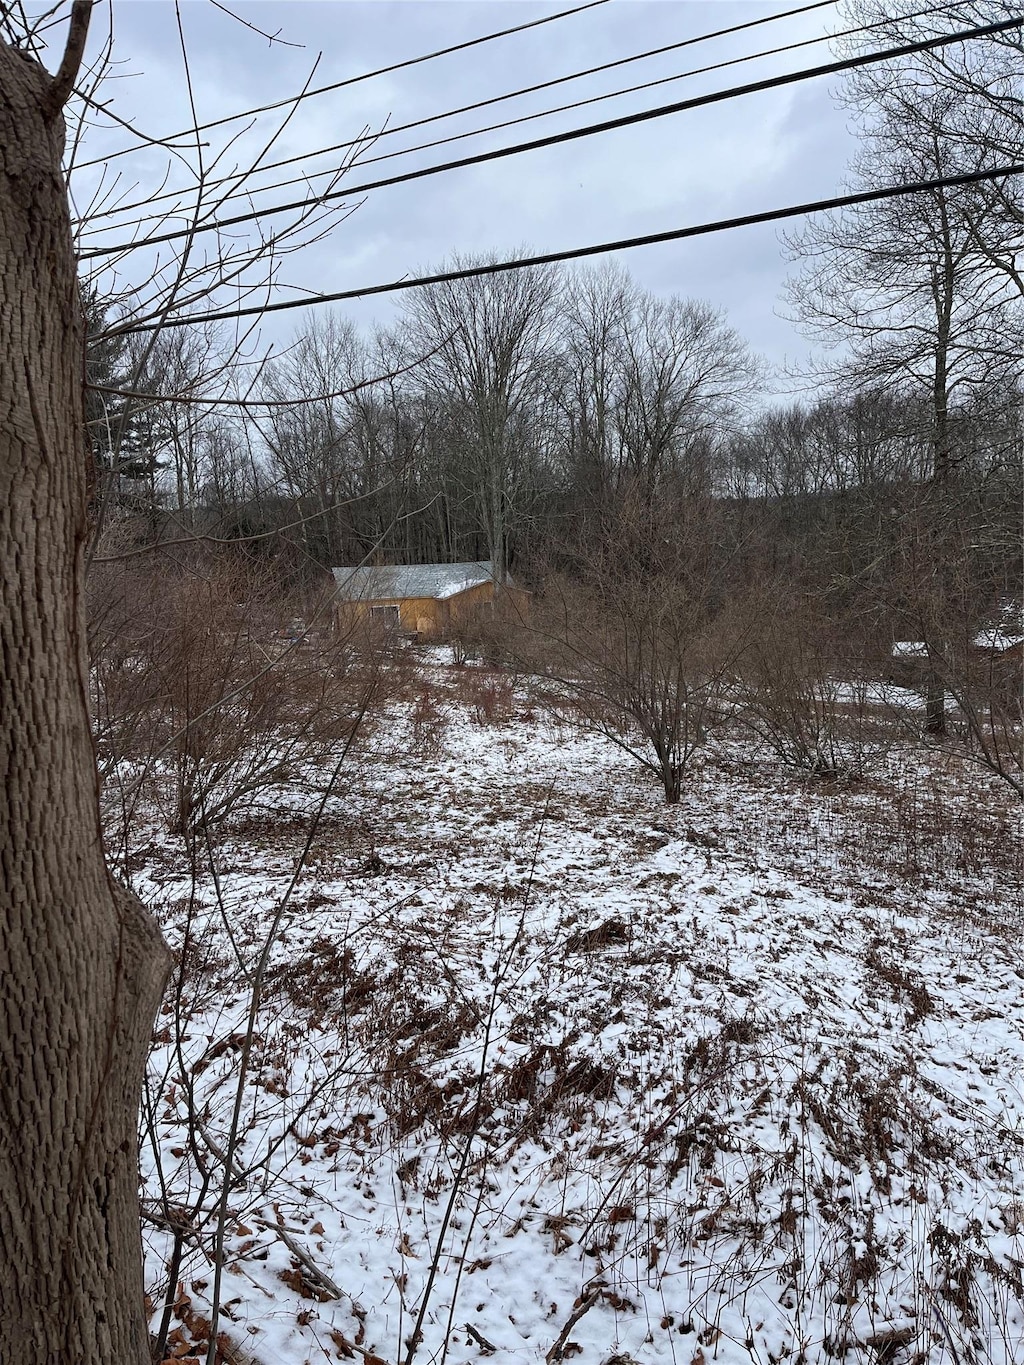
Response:
[[[228,0],[229,3],[229,0]],[[347,81],[496,30],[556,15],[569,7],[532,0],[373,0],[373,3],[246,3],[231,18],[210,0],[184,0],[182,30],[188,53],[191,96],[201,123],[238,115],[266,101],[285,100],[313,86]],[[556,81],[649,49],[677,45],[714,30],[766,19],[799,0],[609,0],[539,27],[359,81],[306,100],[295,111],[279,109],[203,132],[202,157],[216,175],[247,164],[257,147],[276,141],[268,161],[303,156],[291,167],[250,177],[255,206],[280,203],[309,192],[304,183],[259,194],[258,187],[337,168],[344,153],[309,157],[356,136],[363,128],[382,132],[363,149],[362,167],[343,184],[437,164],[513,142],[545,136],[694,94],[758,81],[831,60],[827,41],[776,52],[725,70],[687,75],[694,68],[827,40],[844,27],[837,5],[767,22],[747,31],[707,38],[590,76],[558,83],[489,108],[438,119],[425,127],[389,132],[400,124],[446,113],[524,86]],[[108,29],[97,11],[91,51]],[[113,79],[97,98],[147,138],[164,138],[193,121],[188,82],[175,5],[165,0],[113,0]],[[243,22],[279,33],[280,42]],[[55,33],[56,38],[56,33]],[[51,64],[55,59],[51,57]],[[670,78],[653,89],[621,93],[584,108],[547,112],[625,87]],[[355,213],[330,235],[281,263],[283,285],[313,292],[358,288],[437,268],[456,253],[508,255],[522,248],[557,251],[602,240],[659,232],[687,224],[752,213],[823,198],[842,187],[855,142],[849,116],[838,106],[838,82],[808,81],[710,108],[677,113],[632,128],[606,132],[565,146],[516,156],[483,167],[456,169],[430,179],[355,197]],[[408,150],[385,161],[370,158],[416,149],[487,124],[542,113],[530,121],[481,132],[429,150]],[[288,116],[289,117],[285,117]],[[232,142],[232,139],[235,139]],[[91,161],[76,177],[85,205],[100,175],[122,202],[184,205],[194,184],[195,138],[180,138],[167,152],[139,141],[98,116],[87,130],[79,161]],[[127,156],[115,156],[131,149]],[[220,158],[218,161],[216,158]],[[367,164],[370,162],[370,164]],[[115,179],[116,177],[116,179]],[[322,187],[324,179],[311,186]],[[161,201],[161,186],[183,191]],[[113,201],[106,201],[109,207]],[[246,212],[250,201],[232,199],[221,210]],[[128,220],[97,224],[105,235],[89,244],[123,242]],[[179,227],[182,218],[169,227]],[[280,221],[280,220],[274,220]],[[168,224],[161,225],[164,229]],[[251,231],[251,229],[246,229]],[[203,239],[210,243],[212,239]],[[167,254],[167,248],[164,248]],[[128,262],[127,276],[139,269]],[[597,258],[599,263],[606,258]],[[807,343],[781,315],[780,292],[789,266],[773,227],[745,228],[694,242],[643,247],[617,257],[634,277],[659,295],[707,299],[726,311],[752,347],[782,364],[806,354]],[[291,296],[281,292],[280,298]],[[400,296],[399,296],[400,298]],[[344,304],[360,324],[390,321],[396,302]],[[265,325],[266,337],[284,339],[300,314],[279,314]]]

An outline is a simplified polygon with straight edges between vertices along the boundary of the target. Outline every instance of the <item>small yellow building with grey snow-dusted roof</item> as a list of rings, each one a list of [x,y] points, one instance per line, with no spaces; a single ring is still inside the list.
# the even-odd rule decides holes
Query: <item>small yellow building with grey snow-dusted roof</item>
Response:
[[[437,640],[494,612],[496,599],[522,610],[527,594],[505,577],[494,579],[490,560],[471,564],[375,564],[330,571],[340,614],[390,625],[406,635]]]

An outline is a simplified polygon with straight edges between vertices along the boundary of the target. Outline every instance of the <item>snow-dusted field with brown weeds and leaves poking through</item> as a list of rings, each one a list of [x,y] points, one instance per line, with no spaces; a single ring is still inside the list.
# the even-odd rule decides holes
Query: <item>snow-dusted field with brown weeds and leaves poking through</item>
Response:
[[[1024,1361],[1009,793],[718,738],[666,807],[464,677],[345,760],[295,879],[298,788],[193,865],[134,819],[183,962],[142,1138],[164,1355],[206,1360],[216,1297],[225,1362]]]

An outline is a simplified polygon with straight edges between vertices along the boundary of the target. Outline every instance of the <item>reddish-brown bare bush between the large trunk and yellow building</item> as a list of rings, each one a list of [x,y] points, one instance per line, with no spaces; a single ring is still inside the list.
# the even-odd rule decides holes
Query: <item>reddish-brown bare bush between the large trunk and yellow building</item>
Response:
[[[101,766],[149,785],[190,835],[284,782],[321,785],[392,684],[393,643],[294,603],[236,568],[168,583],[113,571],[96,590],[93,698]]]

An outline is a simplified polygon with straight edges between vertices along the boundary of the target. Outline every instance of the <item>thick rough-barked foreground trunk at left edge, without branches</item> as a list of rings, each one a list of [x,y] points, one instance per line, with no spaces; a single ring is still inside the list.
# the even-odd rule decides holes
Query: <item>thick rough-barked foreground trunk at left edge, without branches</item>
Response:
[[[53,85],[0,44],[0,1361],[141,1365],[137,1114],[168,956],[100,833]]]

